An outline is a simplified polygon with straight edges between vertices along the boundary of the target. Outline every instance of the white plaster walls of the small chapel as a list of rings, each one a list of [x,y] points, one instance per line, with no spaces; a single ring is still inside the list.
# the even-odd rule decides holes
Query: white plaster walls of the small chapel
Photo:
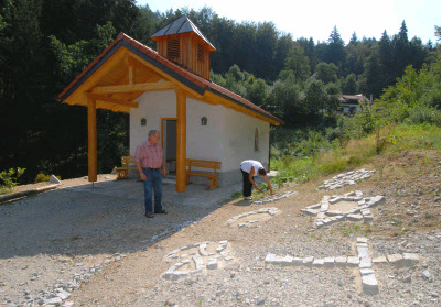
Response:
[[[149,91],[137,99],[139,108],[130,109],[130,155],[147,140],[148,132],[161,132],[161,118],[176,118],[174,90]],[[222,173],[236,170],[245,160],[256,160],[267,168],[270,124],[250,116],[187,98],[186,157],[222,162]],[[201,118],[207,118],[207,125]],[[141,119],[147,125],[141,127]],[[259,132],[259,151],[255,151],[255,129]]]

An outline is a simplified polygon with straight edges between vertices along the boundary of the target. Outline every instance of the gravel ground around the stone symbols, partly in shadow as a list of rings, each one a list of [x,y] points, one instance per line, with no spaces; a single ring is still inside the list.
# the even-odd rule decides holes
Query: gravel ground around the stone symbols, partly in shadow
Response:
[[[151,220],[137,200],[68,189],[3,204],[0,306],[441,306],[440,153],[385,160],[360,166],[382,165],[381,173],[336,191],[317,189],[328,176],[285,186],[280,191],[297,194],[271,204],[233,199],[198,212],[174,206]],[[386,197],[371,224],[314,229],[312,218],[300,213],[324,195],[355,189]],[[226,224],[266,207],[281,213],[247,228]],[[368,239],[373,257],[409,252],[420,261],[412,267],[374,265],[377,295],[362,292],[358,268],[265,264],[268,253],[356,255],[359,237]],[[220,268],[174,282],[162,278],[175,262],[166,258],[174,250],[223,240],[233,260]]]

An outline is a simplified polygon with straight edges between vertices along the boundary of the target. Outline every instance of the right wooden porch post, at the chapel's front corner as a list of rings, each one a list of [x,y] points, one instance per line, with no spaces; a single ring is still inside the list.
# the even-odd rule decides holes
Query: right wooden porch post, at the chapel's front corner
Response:
[[[176,92],[176,191],[185,191],[186,158],[186,97],[183,90]]]

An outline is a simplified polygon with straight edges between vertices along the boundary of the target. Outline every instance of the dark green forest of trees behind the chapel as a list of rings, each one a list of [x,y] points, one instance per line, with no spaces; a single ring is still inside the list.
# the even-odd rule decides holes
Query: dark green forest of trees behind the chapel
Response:
[[[379,38],[353,33],[345,43],[334,28],[326,42],[315,42],[292,37],[272,21],[220,18],[208,7],[153,12],[134,0],[0,0],[0,172],[25,168],[22,183],[41,173],[86,175],[87,110],[61,103],[57,95],[119,32],[155,48],[149,36],[182,14],[217,48],[211,80],[279,117],[285,128],[333,130],[339,95],[397,97],[391,86],[411,70],[435,76],[422,99],[440,112],[440,25],[438,42],[408,37],[406,21]],[[129,116],[98,110],[97,123],[98,173],[109,173],[128,154]]]

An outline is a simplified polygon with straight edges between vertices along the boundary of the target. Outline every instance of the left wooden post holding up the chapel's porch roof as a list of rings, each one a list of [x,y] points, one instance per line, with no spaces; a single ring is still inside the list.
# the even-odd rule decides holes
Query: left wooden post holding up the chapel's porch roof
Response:
[[[97,102],[90,98],[87,103],[87,133],[88,180],[97,182]]]

